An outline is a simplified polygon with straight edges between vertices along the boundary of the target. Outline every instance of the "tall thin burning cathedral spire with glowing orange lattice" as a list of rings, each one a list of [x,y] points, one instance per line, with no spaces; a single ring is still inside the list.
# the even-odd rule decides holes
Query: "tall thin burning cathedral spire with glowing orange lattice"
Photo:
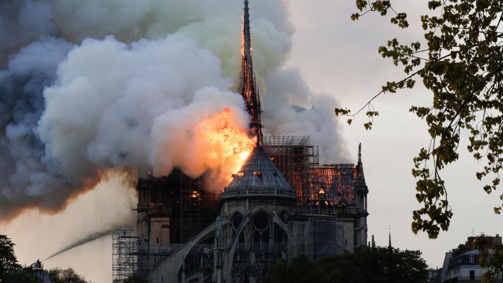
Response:
[[[262,123],[260,121],[262,110],[260,108],[259,89],[255,82],[253,70],[248,0],[244,0],[243,10],[243,46],[241,49],[242,62],[239,92],[243,96],[246,111],[250,115],[249,129],[253,135],[257,136],[257,144],[262,144]]]

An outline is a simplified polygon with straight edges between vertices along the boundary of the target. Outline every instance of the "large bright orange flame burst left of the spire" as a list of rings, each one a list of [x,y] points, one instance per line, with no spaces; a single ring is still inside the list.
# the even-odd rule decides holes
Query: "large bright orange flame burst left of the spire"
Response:
[[[232,180],[232,174],[241,168],[257,143],[257,137],[248,137],[237,120],[236,113],[227,108],[196,126],[196,132],[209,146],[206,147],[208,163],[218,164],[219,175],[225,176],[227,182]]]

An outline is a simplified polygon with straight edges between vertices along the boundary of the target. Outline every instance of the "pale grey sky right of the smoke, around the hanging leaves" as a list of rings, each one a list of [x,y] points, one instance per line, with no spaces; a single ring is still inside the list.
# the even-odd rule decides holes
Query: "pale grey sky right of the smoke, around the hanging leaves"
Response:
[[[389,23],[389,17],[349,18],[355,11],[353,1],[290,1],[292,21],[296,27],[292,57],[287,67],[299,67],[311,88],[328,92],[343,106],[354,110],[375,95],[386,81],[398,81],[402,69],[395,68],[377,52],[379,45],[398,38],[402,43],[422,40],[419,15],[426,1],[395,1],[396,9],[407,12],[411,27],[401,30]],[[427,147],[429,135],[425,124],[409,113],[410,105],[430,104],[430,94],[421,82],[413,91],[386,94],[374,103],[379,117],[371,131],[366,131],[365,117],[356,118],[351,126],[343,123],[343,136],[356,160],[358,141],[362,143],[365,179],[369,187],[369,238],[375,235],[378,245],[387,244],[391,226],[393,246],[421,250],[430,266],[441,266],[444,253],[466,240],[467,234],[503,232],[502,218],[493,207],[498,195],[487,195],[475,177],[480,168],[460,147],[459,161],[444,170],[443,179],[454,213],[448,232],[430,240],[424,233],[411,231],[412,210],[419,208],[415,199],[415,179],[411,175],[412,159],[421,147]],[[359,108],[358,108],[359,109]]]

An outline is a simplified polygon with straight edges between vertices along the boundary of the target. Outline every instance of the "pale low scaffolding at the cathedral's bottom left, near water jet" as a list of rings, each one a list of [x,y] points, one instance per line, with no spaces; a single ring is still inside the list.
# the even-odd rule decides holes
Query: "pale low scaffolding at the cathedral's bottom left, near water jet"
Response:
[[[123,282],[138,269],[138,235],[133,228],[119,229],[112,235],[113,282]]]

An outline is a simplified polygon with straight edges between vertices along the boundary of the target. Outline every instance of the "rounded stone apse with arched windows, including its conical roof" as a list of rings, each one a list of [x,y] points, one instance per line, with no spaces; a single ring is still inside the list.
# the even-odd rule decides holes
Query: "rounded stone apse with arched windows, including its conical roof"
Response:
[[[221,195],[226,282],[262,281],[270,262],[285,256],[282,216],[292,213],[295,190],[259,144]]]

